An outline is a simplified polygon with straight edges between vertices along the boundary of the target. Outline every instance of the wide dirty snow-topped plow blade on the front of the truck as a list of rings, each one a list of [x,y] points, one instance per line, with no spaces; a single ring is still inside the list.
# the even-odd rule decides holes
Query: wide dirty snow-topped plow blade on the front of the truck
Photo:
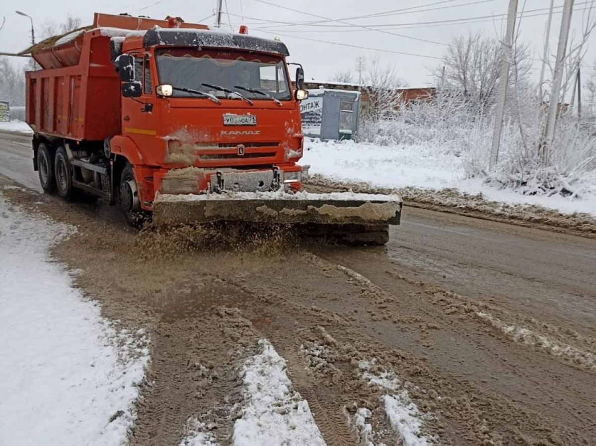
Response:
[[[384,244],[389,224],[399,224],[399,195],[333,192],[224,192],[157,195],[157,227],[216,222],[287,224],[309,235],[331,236],[349,244]]]

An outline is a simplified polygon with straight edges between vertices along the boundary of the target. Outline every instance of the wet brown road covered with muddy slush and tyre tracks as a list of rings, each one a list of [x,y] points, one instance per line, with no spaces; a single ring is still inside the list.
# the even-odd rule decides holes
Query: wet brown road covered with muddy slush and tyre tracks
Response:
[[[0,173],[29,186],[26,143],[0,135]],[[150,322],[132,444],[229,444],[254,413],[238,409],[250,383],[230,365],[250,366],[259,339],[287,361],[328,445],[596,436],[594,239],[406,208],[386,248],[172,253],[159,248],[176,234],[139,241],[98,219],[112,213],[101,204],[0,191],[79,224],[55,255],[110,319]]]

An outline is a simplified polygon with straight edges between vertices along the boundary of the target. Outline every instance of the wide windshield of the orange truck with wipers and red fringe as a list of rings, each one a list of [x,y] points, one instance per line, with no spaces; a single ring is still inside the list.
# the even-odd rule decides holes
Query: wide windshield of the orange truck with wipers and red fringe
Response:
[[[241,99],[231,92],[240,93],[252,100],[291,99],[285,65],[280,58],[265,54],[207,52],[190,48],[161,49],[156,55],[160,84],[192,89],[224,99]],[[174,89],[172,96],[201,97],[177,89]]]

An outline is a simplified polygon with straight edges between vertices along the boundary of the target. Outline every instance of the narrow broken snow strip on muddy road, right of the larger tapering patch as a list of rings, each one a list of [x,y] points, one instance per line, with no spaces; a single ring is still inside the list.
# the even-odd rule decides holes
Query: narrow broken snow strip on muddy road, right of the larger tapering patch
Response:
[[[393,372],[378,372],[373,361],[360,361],[358,364],[361,376],[371,385],[378,386],[387,391],[381,397],[389,423],[399,435],[404,446],[430,446],[433,439],[424,436],[422,431],[423,420],[428,417],[422,413],[418,406],[409,397],[408,391],[403,388],[401,381]]]

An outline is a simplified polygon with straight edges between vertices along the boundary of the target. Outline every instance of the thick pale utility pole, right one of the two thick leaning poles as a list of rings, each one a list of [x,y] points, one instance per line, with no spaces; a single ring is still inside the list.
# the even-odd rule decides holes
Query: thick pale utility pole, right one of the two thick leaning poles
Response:
[[[563,15],[561,16],[561,30],[559,32],[559,41],[557,47],[557,62],[555,63],[555,73],[552,79],[551,97],[548,101],[547,128],[544,132],[544,139],[541,145],[542,162],[546,164],[550,157],[552,141],[555,138],[555,126],[558,117],[558,101],[561,95],[561,82],[563,80],[563,68],[565,64],[565,54],[567,51],[567,40],[569,40],[569,29],[571,25],[571,15],[573,12],[573,0],[565,0],[563,4]]]

